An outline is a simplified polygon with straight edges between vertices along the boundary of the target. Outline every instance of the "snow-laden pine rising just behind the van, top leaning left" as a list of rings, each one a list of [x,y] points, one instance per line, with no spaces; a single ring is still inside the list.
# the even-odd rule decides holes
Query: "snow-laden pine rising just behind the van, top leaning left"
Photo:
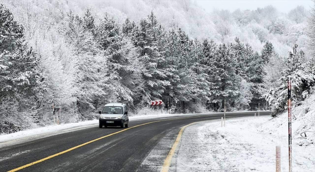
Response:
[[[97,26],[96,39],[108,56],[109,69],[119,77],[118,99],[139,103],[140,94],[143,94],[140,91],[144,87],[143,77],[139,73],[145,71],[145,64],[141,63],[140,58],[136,58],[139,53],[130,37],[123,35],[115,21],[106,16]]]

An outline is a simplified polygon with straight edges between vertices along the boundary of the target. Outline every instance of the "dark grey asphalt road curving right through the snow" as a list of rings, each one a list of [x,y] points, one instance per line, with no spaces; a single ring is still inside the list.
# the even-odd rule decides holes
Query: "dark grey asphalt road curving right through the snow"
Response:
[[[254,113],[231,112],[226,113],[226,118],[253,116]],[[270,112],[263,111],[260,114],[269,115]],[[223,113],[211,113],[129,120],[127,130],[116,127],[101,129],[95,125],[92,128],[2,147],[0,171],[9,171],[38,160],[41,162],[20,171],[150,171],[148,165],[141,163],[161,138],[168,136],[169,145],[172,145],[182,126],[196,121],[221,119],[222,116]],[[117,131],[121,132],[116,133]],[[168,135],[170,131],[174,134]],[[107,136],[112,133],[116,134]],[[68,150],[103,136],[106,137]],[[46,158],[65,150],[68,151]],[[167,152],[156,161],[163,164]]]

